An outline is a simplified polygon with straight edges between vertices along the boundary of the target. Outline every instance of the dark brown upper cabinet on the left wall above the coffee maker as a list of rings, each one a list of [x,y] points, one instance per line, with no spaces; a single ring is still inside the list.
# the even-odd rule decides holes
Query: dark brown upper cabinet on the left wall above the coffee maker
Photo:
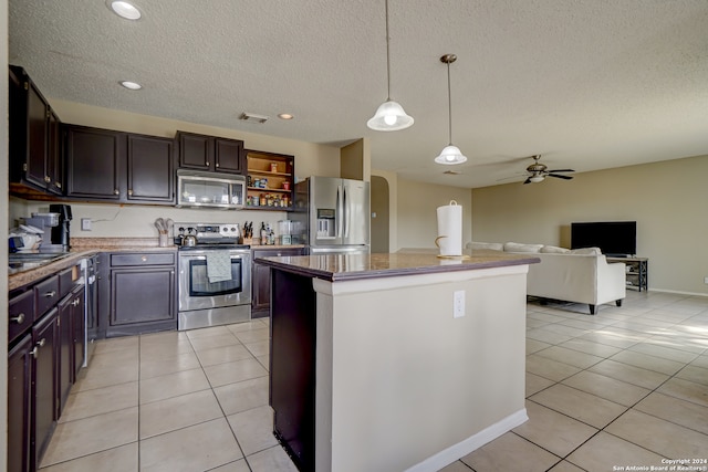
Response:
[[[22,67],[9,74],[10,192],[62,195],[59,117]]]

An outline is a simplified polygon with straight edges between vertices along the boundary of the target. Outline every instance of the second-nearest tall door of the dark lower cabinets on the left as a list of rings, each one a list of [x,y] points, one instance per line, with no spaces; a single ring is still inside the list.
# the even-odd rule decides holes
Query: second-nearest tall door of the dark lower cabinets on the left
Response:
[[[32,328],[32,441],[31,470],[37,470],[56,420],[56,308]]]

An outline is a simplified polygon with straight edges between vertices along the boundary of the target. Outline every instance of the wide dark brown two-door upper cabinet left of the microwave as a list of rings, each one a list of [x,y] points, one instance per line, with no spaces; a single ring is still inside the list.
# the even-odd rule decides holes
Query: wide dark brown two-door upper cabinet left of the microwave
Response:
[[[170,138],[64,125],[66,197],[121,203],[175,203]]]

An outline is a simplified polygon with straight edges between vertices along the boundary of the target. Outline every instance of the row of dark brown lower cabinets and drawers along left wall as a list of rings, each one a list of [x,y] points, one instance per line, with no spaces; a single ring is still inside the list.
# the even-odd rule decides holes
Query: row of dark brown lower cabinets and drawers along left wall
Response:
[[[83,365],[84,285],[74,269],[9,293],[10,472],[39,468]]]

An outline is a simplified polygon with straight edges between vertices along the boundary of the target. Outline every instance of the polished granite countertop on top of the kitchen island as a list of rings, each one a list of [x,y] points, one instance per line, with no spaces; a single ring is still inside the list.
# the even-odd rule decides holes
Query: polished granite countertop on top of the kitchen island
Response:
[[[301,275],[336,281],[470,271],[535,264],[539,258],[489,250],[466,250],[465,258],[441,259],[435,250],[395,254],[317,254],[256,258],[256,262]]]

